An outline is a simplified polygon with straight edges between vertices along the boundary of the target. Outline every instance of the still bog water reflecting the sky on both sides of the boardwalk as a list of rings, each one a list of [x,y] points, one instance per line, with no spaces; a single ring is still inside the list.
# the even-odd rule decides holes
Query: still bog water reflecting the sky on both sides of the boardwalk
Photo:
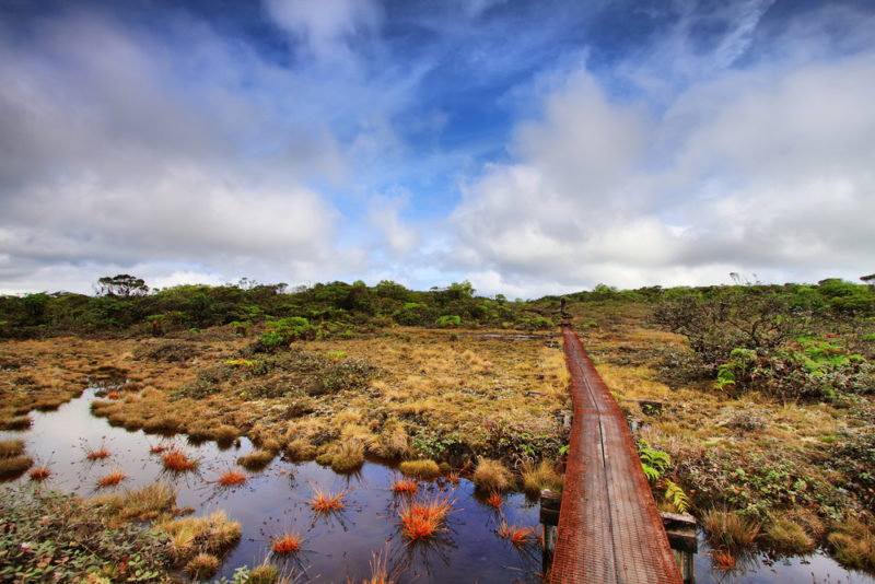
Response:
[[[110,489],[98,488],[97,480],[119,469],[127,478],[115,489],[136,489],[163,480],[177,490],[177,504],[192,507],[197,515],[222,510],[242,524],[240,544],[225,557],[219,576],[231,576],[241,565],[249,568],[266,558],[301,574],[299,581],[361,581],[370,576],[373,553],[382,552],[389,568],[400,573],[401,582],[539,582],[540,547],[534,540],[516,547],[499,536],[502,519],[508,525],[537,527],[539,509],[522,494],[505,497],[499,513],[488,505],[474,484],[460,479],[420,482],[420,494],[450,497],[453,512],[448,529],[427,544],[409,545],[401,536],[397,518],[402,499],[392,491],[398,472],[389,467],[365,463],[352,475],[338,475],[316,463],[294,464],[276,458],[240,487],[222,487],[219,477],[235,468],[236,458],[253,451],[246,439],[220,448],[213,442],[192,444],[185,436],[161,437],[142,431],[128,432],[91,416],[89,406],[94,389],[54,412],[32,412],[34,421],[24,432],[0,432],[0,440],[25,441],[26,453],[37,465],[48,465],[47,487],[88,498]],[[197,471],[171,474],[152,447],[166,445],[185,449],[200,460]],[[105,446],[110,455],[90,462],[86,449]],[[26,482],[27,475],[12,481]],[[342,512],[317,515],[306,503],[314,489],[324,492],[349,491]],[[304,537],[303,550],[283,565],[271,557],[270,538],[284,532]],[[699,583],[795,582],[875,584],[875,579],[849,572],[832,559],[816,553],[805,558],[770,560],[751,554],[739,560],[738,569],[712,569],[707,544],[700,535],[699,553],[693,557],[695,581]],[[303,573],[303,574],[302,574]],[[219,577],[217,576],[217,577]]]

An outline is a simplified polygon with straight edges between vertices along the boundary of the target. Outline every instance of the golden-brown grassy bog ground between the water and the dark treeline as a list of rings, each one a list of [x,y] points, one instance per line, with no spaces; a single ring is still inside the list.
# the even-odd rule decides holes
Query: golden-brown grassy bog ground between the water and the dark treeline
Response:
[[[819,549],[875,570],[872,317],[837,301],[786,328],[810,290],[820,293],[685,289],[656,291],[656,302],[603,290],[568,302],[635,428],[658,505],[700,521],[711,564],[730,579],[762,551],[780,561]],[[775,308],[774,297],[786,302]],[[558,299],[529,308],[527,322],[558,319]],[[195,441],[245,436],[254,447],[240,464],[252,468],[275,457],[341,474],[365,459],[434,460],[446,476],[474,477],[494,459],[522,488],[523,470],[561,463],[570,402],[551,329],[371,323],[276,342],[272,331],[292,325],[7,340],[0,427],[27,428],[32,410],[105,382],[116,385],[95,416]]]

